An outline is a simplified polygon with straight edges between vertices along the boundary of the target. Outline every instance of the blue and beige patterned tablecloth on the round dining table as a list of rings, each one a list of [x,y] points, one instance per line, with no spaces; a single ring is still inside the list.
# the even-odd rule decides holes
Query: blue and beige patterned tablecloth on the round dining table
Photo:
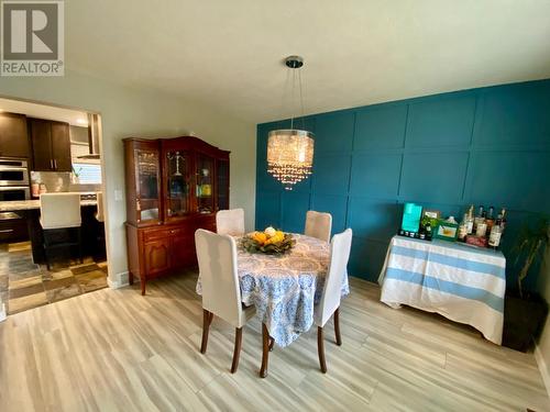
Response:
[[[282,256],[250,254],[238,248],[241,299],[256,307],[256,315],[279,346],[288,346],[314,324],[330,260],[327,242],[295,234],[296,246]],[[342,296],[350,292],[348,274]],[[197,293],[201,293],[200,277]]]

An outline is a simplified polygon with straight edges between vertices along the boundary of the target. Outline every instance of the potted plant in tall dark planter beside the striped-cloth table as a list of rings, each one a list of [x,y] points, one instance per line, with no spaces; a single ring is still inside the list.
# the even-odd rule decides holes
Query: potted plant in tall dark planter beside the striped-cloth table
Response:
[[[525,224],[512,249],[516,255],[516,265],[521,263],[517,289],[507,292],[504,303],[503,345],[516,350],[527,352],[544,325],[548,303],[532,291],[524,290],[524,280],[529,275],[532,264],[540,258],[550,244],[548,216],[541,216],[531,227]]]

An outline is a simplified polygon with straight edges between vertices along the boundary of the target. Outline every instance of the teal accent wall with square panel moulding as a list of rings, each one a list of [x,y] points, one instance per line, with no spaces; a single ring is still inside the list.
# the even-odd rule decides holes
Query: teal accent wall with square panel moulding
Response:
[[[267,133],[289,122],[257,125],[256,229],[302,232],[308,210],[330,212],[333,233],[353,229],[353,276],[377,279],[404,202],[458,219],[471,203],[505,207],[505,254],[526,218],[550,212],[550,80],[320,113],[306,123],[316,134],[314,175],[293,191],[266,171]]]

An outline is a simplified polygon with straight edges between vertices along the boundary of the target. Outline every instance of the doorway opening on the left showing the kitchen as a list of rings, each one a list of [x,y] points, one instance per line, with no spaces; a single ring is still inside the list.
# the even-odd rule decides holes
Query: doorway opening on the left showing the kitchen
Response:
[[[0,175],[11,177],[0,179],[9,194],[0,199],[0,320],[108,286],[100,122],[0,98]],[[79,222],[63,224],[55,201],[66,199]]]

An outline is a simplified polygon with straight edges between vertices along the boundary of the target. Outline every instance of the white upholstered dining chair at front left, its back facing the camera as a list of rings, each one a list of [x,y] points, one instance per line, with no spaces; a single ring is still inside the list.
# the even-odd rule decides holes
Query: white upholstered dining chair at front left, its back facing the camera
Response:
[[[202,287],[202,343],[208,345],[208,332],[213,316],[235,327],[235,345],[231,374],[239,367],[242,327],[255,313],[254,307],[243,308],[237,271],[237,244],[230,235],[219,235],[202,229],[195,232],[195,244]]]

